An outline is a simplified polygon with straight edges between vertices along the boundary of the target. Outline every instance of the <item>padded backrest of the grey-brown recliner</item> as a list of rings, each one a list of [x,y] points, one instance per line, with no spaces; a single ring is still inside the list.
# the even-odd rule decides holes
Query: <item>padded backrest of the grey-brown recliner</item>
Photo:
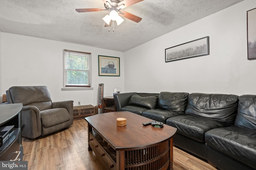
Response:
[[[13,103],[36,106],[40,111],[51,109],[52,100],[46,86],[13,86],[9,88]]]

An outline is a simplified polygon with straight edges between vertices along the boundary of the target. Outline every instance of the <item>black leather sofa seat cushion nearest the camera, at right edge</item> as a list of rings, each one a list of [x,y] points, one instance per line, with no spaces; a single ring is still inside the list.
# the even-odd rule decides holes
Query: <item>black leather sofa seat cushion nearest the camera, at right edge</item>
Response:
[[[209,147],[256,168],[256,131],[237,126],[211,129],[205,133],[205,142]]]

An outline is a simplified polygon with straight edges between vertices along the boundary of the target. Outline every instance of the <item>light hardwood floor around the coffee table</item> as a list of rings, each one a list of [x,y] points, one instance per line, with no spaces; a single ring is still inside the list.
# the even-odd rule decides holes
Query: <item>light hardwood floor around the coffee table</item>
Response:
[[[87,122],[40,139],[22,137],[23,160],[28,170],[102,170],[94,152],[88,151]],[[210,164],[174,147],[174,170],[216,170]]]

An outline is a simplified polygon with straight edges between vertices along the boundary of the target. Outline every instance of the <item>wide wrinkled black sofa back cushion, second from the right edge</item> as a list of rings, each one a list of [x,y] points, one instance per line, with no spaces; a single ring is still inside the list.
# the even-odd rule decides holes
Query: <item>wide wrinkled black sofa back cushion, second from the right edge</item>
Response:
[[[238,96],[233,94],[192,93],[188,96],[185,113],[233,125],[237,105]]]

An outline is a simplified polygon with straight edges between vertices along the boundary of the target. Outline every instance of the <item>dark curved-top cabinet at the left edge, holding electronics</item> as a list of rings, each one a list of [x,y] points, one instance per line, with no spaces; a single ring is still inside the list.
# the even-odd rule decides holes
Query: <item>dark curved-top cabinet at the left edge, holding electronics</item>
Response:
[[[23,147],[21,143],[21,109],[22,104],[0,105],[0,127],[14,125],[14,131],[0,147],[0,160],[22,160]]]

